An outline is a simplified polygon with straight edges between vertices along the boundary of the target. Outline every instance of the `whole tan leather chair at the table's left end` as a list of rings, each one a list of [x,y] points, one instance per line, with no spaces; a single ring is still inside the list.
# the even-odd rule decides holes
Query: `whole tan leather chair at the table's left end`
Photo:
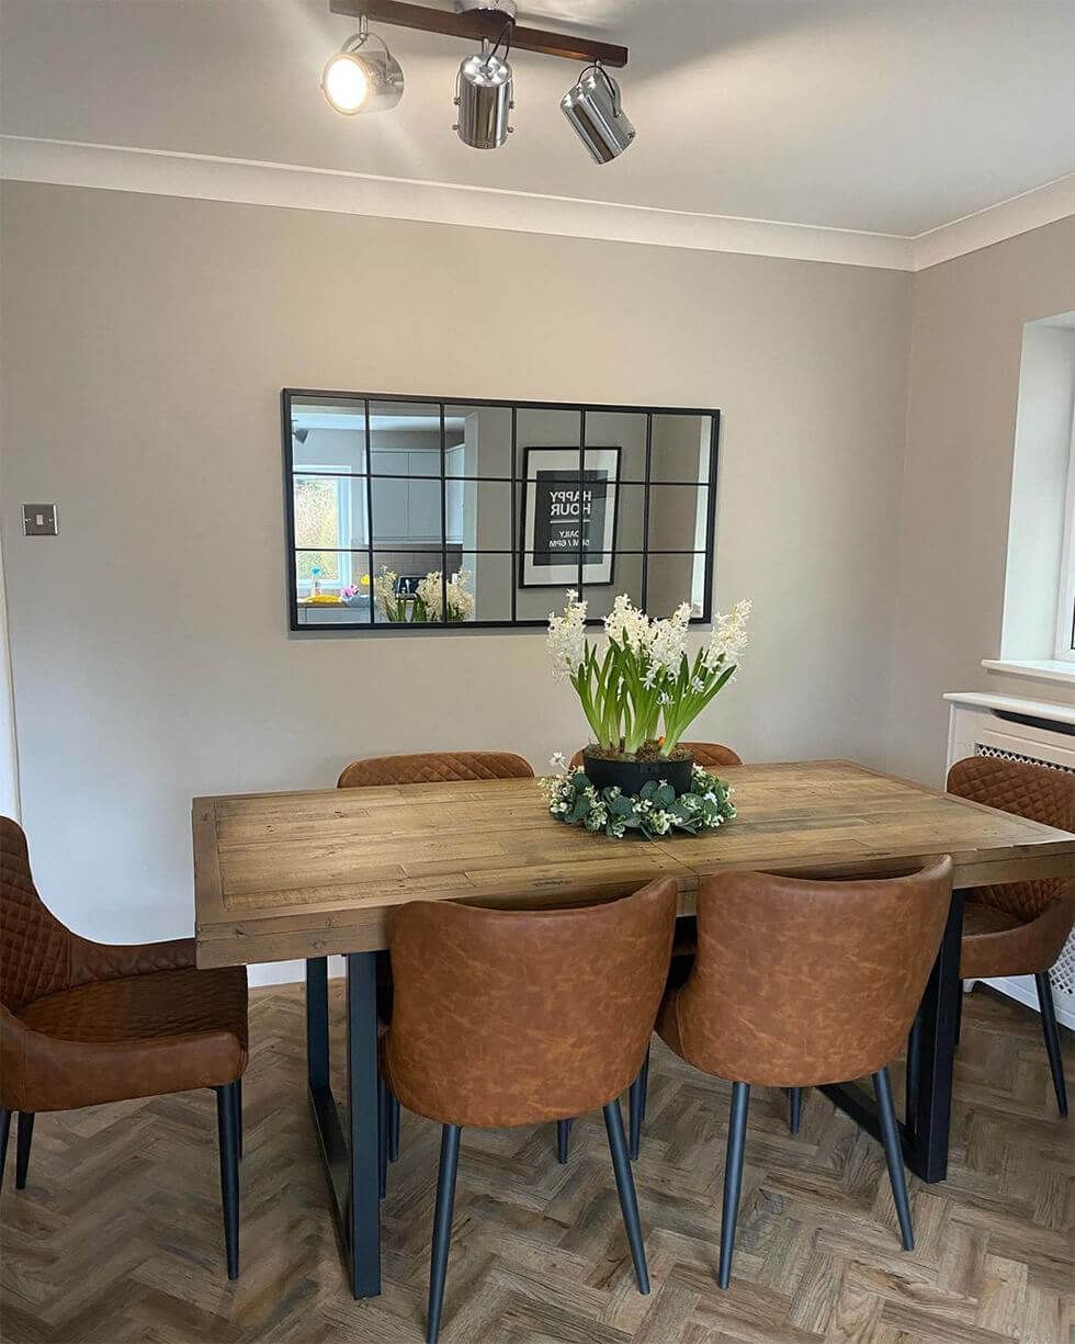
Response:
[[[194,938],[79,938],[38,895],[22,828],[0,817],[0,1180],[12,1111],[24,1189],[38,1111],[211,1087],[227,1274],[238,1278],[246,1060],[245,966],[196,970]]]

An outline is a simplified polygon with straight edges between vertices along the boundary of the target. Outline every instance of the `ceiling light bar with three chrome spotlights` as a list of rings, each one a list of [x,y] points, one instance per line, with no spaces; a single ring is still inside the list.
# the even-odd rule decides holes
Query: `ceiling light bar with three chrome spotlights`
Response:
[[[624,113],[619,86],[607,66],[628,63],[626,47],[527,28],[516,23],[513,0],[456,0],[456,13],[399,0],[331,0],[333,13],[355,15],[359,31],[329,56],[321,90],[336,112],[353,117],[388,112],[403,97],[403,70],[370,20],[480,40],[456,77],[453,130],[472,149],[499,149],[512,133],[515,75],[508,60],[512,46],[566,60],[587,62],[560,99],[560,110],[594,163],[606,164],[634,140]]]

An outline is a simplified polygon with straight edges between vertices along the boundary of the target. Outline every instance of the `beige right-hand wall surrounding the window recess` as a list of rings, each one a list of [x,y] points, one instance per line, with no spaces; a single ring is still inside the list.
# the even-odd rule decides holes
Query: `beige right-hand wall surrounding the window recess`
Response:
[[[888,745],[900,774],[943,778],[946,691],[1075,703],[980,665],[1001,648],[1023,327],[1074,306],[1075,219],[915,276]]]

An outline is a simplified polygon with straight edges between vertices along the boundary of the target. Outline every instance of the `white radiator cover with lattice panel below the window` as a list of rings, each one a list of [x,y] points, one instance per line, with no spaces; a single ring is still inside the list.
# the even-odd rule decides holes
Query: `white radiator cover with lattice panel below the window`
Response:
[[[1075,773],[1075,708],[1047,700],[1023,700],[1010,695],[961,691],[945,696],[950,703],[949,766],[965,757],[997,757],[1033,761],[1055,770]],[[1035,723],[1013,723],[1001,715],[1017,714]],[[1075,1031],[1075,933],[1068,938],[1049,972],[1056,1020]],[[986,980],[1000,993],[1037,1011],[1033,976]]]

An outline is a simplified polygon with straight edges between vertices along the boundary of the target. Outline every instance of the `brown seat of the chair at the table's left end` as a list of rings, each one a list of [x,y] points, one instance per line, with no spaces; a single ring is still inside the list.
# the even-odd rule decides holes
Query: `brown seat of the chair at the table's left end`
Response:
[[[159,970],[28,1004],[20,1109],[67,1110],[234,1082],[246,1067],[246,970]]]

